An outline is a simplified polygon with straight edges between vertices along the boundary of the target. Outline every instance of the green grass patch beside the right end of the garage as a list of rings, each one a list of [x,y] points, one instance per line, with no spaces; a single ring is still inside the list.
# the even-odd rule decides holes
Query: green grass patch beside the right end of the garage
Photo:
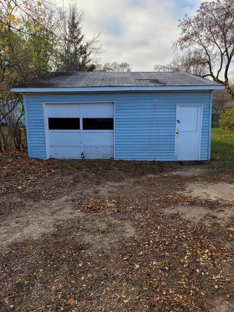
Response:
[[[234,170],[234,131],[212,129],[211,160],[221,170]]]

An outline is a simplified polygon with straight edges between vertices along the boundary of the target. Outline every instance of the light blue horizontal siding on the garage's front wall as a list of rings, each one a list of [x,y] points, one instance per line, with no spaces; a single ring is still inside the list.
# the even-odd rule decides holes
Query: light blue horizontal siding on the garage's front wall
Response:
[[[46,159],[43,102],[115,101],[115,158],[174,160],[176,104],[203,104],[201,160],[209,159],[210,91],[27,94],[31,157]]]

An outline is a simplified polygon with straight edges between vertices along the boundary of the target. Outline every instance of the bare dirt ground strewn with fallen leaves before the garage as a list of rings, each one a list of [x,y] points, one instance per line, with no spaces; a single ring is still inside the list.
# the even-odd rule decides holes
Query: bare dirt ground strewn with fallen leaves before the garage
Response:
[[[234,311],[234,175],[0,160],[0,312]]]

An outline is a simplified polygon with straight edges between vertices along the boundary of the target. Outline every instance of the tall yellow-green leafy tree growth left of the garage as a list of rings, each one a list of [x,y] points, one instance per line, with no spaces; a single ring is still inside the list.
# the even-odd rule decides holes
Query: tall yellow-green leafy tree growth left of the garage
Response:
[[[11,94],[11,87],[51,71],[55,53],[52,10],[42,8],[39,1],[32,5],[25,2],[25,10],[28,7],[30,12],[26,14],[17,4],[13,0],[0,2],[1,8],[6,5],[0,12],[4,22],[0,29],[0,151],[20,150],[22,146],[23,98]],[[4,131],[2,120],[7,121]]]

